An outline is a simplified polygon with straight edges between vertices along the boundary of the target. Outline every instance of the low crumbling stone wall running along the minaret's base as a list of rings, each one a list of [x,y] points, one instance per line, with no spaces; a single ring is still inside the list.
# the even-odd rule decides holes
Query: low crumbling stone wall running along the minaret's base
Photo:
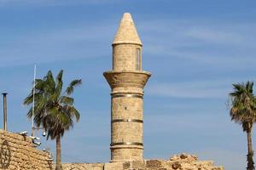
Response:
[[[224,170],[212,161],[198,161],[196,156],[181,154],[169,160],[126,161],[113,163],[63,163],[63,170]]]

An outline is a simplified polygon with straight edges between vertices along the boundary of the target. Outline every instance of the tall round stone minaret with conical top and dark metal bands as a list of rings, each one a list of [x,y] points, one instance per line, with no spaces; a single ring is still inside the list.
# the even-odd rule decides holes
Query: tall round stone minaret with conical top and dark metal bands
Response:
[[[111,93],[111,161],[143,160],[143,44],[125,13],[113,43],[113,70],[104,72]]]

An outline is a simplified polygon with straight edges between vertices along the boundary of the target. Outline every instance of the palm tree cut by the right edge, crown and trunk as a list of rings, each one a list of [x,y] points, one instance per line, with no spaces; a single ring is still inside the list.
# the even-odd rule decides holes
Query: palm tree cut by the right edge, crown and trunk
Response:
[[[233,84],[234,92],[230,93],[232,107],[231,121],[241,124],[247,133],[247,170],[254,169],[252,130],[256,121],[256,99],[253,95],[253,82]]]

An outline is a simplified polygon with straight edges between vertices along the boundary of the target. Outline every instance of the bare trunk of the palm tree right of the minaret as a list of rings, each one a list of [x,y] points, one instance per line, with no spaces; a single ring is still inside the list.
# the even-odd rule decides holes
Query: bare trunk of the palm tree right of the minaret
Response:
[[[247,154],[247,170],[253,170],[254,162],[253,162],[253,143],[252,143],[252,129],[253,127],[247,130],[247,147],[248,147],[248,154]]]

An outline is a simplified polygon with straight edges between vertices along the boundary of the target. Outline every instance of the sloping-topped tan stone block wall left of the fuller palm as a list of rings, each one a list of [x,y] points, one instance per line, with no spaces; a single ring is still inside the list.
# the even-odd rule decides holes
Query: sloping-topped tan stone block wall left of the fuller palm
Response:
[[[38,150],[32,139],[0,129],[0,170],[50,170],[49,153]]]

